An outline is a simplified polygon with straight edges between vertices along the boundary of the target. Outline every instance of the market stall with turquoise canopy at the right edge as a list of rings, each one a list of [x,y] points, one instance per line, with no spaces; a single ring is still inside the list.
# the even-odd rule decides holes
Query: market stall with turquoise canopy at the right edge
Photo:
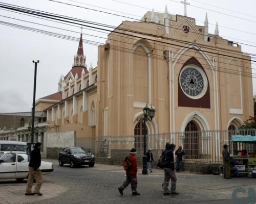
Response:
[[[256,177],[256,136],[251,135],[232,135],[233,143],[243,143],[244,149],[237,150],[239,155],[234,155],[233,159],[237,162],[235,165],[241,174],[247,174],[249,177]],[[246,149],[246,147],[248,149]]]

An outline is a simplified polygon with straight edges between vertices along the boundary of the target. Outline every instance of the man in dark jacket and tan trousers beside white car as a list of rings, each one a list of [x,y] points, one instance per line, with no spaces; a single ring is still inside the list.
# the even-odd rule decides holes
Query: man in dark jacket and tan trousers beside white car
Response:
[[[41,165],[40,149],[41,149],[41,143],[37,142],[35,144],[35,148],[31,151],[31,154],[30,154],[29,178],[28,178],[25,195],[34,195],[34,194],[42,195],[42,193],[40,193],[40,188],[42,185],[42,173],[41,173],[41,170],[39,169]],[[36,186],[34,189],[34,193],[32,193],[31,189],[32,189],[34,180],[36,181]]]

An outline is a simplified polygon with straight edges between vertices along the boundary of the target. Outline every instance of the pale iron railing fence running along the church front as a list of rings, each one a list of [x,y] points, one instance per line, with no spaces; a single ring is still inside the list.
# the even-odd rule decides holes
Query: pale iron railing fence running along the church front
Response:
[[[231,135],[255,136],[255,129],[240,129],[230,131],[186,131],[175,133],[161,133],[146,135],[146,148],[153,150],[165,149],[165,144],[174,143],[178,148],[181,145],[185,151],[186,161],[207,163],[221,163],[221,151],[224,144],[229,145],[229,152],[238,155],[239,151],[246,149],[248,153],[256,152],[256,144],[232,142]],[[87,140],[87,141],[86,141]],[[96,156],[111,157],[112,149],[143,150],[143,135],[132,136],[102,136],[84,139],[80,138],[80,146],[90,148]],[[86,145],[86,146],[84,146]]]

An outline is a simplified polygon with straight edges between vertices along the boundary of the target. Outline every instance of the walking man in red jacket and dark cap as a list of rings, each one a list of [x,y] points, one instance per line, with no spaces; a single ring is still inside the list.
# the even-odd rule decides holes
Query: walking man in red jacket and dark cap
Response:
[[[132,195],[140,195],[137,192],[137,161],[136,155],[137,151],[135,148],[132,148],[129,154],[130,162],[132,165],[131,170],[126,171],[126,180],[123,182],[123,185],[118,188],[118,191],[121,195],[123,195],[123,190],[131,183],[132,187]]]

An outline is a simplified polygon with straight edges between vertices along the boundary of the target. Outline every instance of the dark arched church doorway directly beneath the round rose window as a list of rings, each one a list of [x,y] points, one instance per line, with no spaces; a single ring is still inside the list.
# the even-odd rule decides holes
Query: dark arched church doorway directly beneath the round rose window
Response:
[[[199,129],[193,120],[187,123],[184,136],[184,159],[200,159]]]

